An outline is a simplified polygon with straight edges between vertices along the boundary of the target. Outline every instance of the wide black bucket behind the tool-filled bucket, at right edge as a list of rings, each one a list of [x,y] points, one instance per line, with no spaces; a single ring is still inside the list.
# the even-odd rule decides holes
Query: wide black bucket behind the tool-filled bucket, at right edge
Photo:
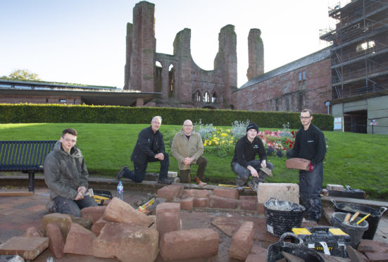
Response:
[[[380,223],[380,218],[382,214],[387,211],[386,207],[380,207],[378,210],[376,208],[371,208],[370,206],[363,206],[361,204],[353,204],[353,203],[336,203],[334,199],[331,199],[332,204],[334,205],[334,211],[335,212],[343,212],[343,213],[356,213],[357,211],[360,212],[359,217],[366,216],[368,213],[370,213],[370,216],[366,218],[369,224],[368,230],[366,230],[363,234],[363,239],[371,239],[373,240],[373,237],[375,237],[375,233],[377,230],[377,227]]]

